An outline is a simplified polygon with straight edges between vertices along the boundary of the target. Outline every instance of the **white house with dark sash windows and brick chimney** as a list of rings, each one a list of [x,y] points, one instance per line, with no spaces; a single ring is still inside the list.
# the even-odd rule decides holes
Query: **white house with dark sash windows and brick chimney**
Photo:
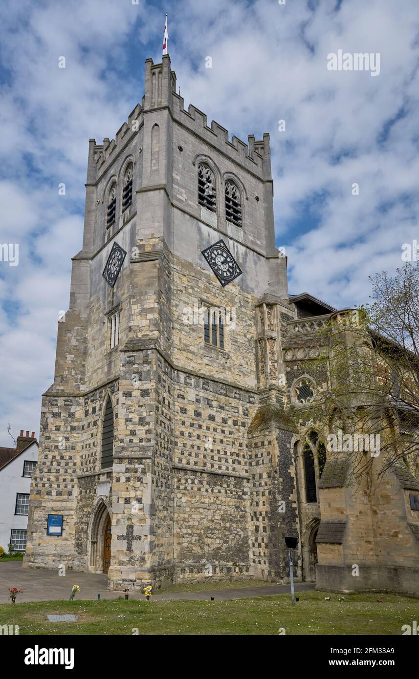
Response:
[[[0,547],[7,551],[26,549],[31,477],[38,460],[35,432],[20,436],[16,448],[0,447]]]

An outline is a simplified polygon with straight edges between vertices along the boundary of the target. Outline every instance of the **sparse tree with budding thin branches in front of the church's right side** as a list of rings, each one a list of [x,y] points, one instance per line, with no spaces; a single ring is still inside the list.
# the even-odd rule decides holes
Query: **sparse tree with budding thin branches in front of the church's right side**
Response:
[[[323,381],[291,415],[316,426],[337,464],[352,456],[352,479],[394,465],[419,478],[419,263],[370,280],[369,304],[331,314],[318,331],[312,373]]]

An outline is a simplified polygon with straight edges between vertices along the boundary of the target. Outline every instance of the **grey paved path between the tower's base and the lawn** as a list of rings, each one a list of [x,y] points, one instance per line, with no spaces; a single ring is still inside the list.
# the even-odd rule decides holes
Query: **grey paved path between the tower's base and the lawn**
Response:
[[[16,602],[25,601],[62,601],[69,598],[71,587],[79,585],[77,599],[117,599],[124,596],[123,592],[107,589],[107,576],[102,573],[81,573],[68,570],[65,577],[59,576],[56,569],[22,568],[22,562],[9,561],[0,563],[0,604],[9,600],[9,587],[20,587],[23,594],[18,594]],[[295,583],[295,591],[314,589],[314,583]],[[240,589],[213,589],[200,592],[177,592],[153,595],[153,599],[171,600],[208,600],[213,596],[215,600],[242,599],[252,596],[268,594],[282,594],[289,591],[289,585],[266,585],[263,587],[249,587]],[[130,593],[130,599],[143,599],[141,593]]]

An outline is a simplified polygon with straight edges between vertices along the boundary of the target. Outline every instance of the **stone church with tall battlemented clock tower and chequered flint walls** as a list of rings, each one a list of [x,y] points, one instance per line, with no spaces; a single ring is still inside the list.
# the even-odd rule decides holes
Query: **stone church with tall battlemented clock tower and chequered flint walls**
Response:
[[[352,488],[287,414],[327,380],[318,329],[349,312],[289,295],[272,196],[269,135],[230,141],[184,109],[168,56],[147,59],[141,105],[89,142],[24,566],[111,589],[287,582],[295,537],[299,580],[419,593],[414,476]]]

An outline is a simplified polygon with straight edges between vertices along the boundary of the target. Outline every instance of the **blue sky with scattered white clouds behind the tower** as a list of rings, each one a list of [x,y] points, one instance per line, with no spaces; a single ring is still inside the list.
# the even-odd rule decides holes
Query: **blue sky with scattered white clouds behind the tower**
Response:
[[[81,249],[88,139],[113,139],[141,102],[165,13],[185,108],[243,141],[270,133],[291,293],[362,304],[368,276],[394,272],[419,240],[418,0],[2,0],[0,244],[12,250],[0,261],[0,445],[13,445],[9,423],[15,438],[39,433]],[[379,73],[330,70],[339,50],[379,58]]]

